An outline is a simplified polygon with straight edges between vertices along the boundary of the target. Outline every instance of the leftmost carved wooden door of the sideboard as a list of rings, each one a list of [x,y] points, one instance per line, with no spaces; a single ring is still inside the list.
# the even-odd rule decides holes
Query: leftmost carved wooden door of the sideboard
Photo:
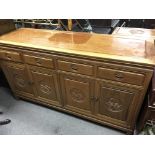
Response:
[[[23,95],[33,96],[33,88],[25,65],[3,62],[2,66],[6,70],[6,77],[14,91],[18,91],[18,93]]]

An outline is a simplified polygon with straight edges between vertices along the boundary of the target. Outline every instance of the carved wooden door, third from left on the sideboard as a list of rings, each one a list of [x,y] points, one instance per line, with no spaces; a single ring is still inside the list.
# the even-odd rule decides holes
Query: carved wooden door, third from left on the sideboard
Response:
[[[65,108],[78,113],[91,114],[93,112],[91,100],[94,91],[93,80],[62,74],[60,81]]]

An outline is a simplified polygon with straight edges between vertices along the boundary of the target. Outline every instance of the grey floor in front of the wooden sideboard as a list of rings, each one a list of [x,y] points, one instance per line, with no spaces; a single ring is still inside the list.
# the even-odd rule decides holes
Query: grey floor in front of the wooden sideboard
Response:
[[[0,135],[123,135],[124,133],[31,102],[16,100],[9,89],[0,87]]]

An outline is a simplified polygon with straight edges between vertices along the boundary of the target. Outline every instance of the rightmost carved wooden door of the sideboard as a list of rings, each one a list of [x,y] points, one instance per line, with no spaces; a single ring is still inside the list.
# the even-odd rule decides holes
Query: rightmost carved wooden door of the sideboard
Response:
[[[130,124],[136,111],[140,90],[110,83],[96,82],[96,115],[99,119],[108,120],[114,124]],[[133,117],[134,118],[134,117]]]

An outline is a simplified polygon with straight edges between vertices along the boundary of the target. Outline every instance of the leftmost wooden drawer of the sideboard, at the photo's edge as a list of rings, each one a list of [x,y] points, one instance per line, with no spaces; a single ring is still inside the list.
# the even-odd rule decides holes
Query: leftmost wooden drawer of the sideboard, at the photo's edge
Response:
[[[11,51],[0,50],[0,58],[4,60],[22,62],[20,54],[14,51],[11,52]]]

